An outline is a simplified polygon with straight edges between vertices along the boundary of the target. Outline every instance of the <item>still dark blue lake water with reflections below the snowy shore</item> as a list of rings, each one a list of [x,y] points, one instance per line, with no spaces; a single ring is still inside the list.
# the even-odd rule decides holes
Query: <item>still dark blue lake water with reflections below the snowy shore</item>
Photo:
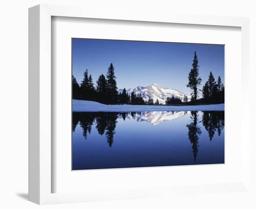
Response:
[[[224,111],[73,112],[73,170],[224,163]]]

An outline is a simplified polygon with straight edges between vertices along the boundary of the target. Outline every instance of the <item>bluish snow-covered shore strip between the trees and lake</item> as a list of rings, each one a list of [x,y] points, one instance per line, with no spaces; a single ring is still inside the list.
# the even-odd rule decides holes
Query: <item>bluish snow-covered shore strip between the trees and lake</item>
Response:
[[[165,106],[165,105],[107,105],[73,99],[74,112],[139,112],[139,111],[224,111],[224,104]]]

